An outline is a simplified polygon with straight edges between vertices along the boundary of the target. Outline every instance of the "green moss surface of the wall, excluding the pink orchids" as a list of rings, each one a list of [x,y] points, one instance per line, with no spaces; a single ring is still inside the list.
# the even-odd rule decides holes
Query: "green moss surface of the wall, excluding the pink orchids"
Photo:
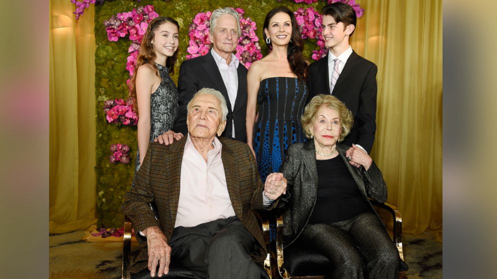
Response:
[[[188,25],[198,12],[212,11],[217,7],[231,6],[241,7],[245,10],[244,17],[251,17],[258,26],[257,34],[260,39],[262,53],[265,56],[268,49],[262,41],[262,26],[266,13],[274,7],[287,5],[292,10],[299,7],[309,7],[305,3],[295,3],[291,0],[115,0],[97,5],[95,9],[95,38],[97,50],[95,53],[95,98],[96,125],[97,125],[97,218],[99,226],[121,227],[123,224],[123,213],[121,205],[124,193],[131,187],[134,174],[134,159],[136,157],[136,126],[117,126],[110,124],[105,119],[102,109],[107,99],[124,98],[128,95],[126,80],[129,73],[126,70],[126,58],[131,41],[128,38],[120,38],[119,41],[109,41],[103,24],[118,12],[131,11],[141,5],[154,5],[159,15],[167,15],[175,18],[180,24],[180,44],[178,61],[175,65],[173,80],[177,82],[179,65],[185,59],[186,47],[188,46]],[[317,10],[324,6],[324,2],[318,1],[312,4]],[[308,40],[305,47],[306,57],[310,57],[315,48],[315,40]],[[310,58],[309,58],[310,59]],[[111,155],[110,145],[112,143],[126,143],[130,146],[131,162],[128,164],[109,162]]]

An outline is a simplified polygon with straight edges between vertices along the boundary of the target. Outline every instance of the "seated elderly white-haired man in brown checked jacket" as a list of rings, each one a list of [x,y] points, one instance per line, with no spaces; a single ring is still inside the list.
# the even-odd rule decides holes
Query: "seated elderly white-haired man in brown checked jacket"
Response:
[[[228,111],[222,94],[202,88],[187,107],[188,135],[170,145],[151,143],[124,197],[124,213],[147,242],[131,271],[148,266],[160,277],[176,261],[198,278],[261,278],[256,261],[266,248],[253,209],[275,204],[263,192],[249,146],[216,137]],[[277,185],[277,195],[286,189],[281,178],[268,183]]]

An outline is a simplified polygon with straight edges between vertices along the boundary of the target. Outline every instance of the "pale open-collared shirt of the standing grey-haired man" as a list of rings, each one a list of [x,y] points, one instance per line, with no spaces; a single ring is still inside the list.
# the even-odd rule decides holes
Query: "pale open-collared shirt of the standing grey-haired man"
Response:
[[[238,72],[236,69],[240,61],[236,56],[231,53],[231,61],[229,65],[226,64],[226,59],[221,57],[221,55],[215,52],[214,48],[210,50],[212,56],[214,57],[214,61],[216,61],[217,67],[219,68],[219,72],[221,73],[222,81],[224,82],[224,86],[228,91],[229,102],[231,104],[231,111],[234,108],[234,102],[236,100],[236,93],[238,92]],[[234,138],[234,122],[231,119],[232,126],[232,138]]]

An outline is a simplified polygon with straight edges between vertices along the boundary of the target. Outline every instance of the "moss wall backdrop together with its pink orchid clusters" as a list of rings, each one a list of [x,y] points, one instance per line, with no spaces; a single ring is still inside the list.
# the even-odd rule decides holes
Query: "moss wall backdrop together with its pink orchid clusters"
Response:
[[[326,54],[319,39],[319,11],[329,1],[351,4],[355,0],[70,0],[75,16],[85,20],[84,10],[95,4],[95,97],[97,106],[97,218],[98,226],[121,227],[124,193],[131,187],[136,157],[137,116],[128,100],[127,81],[134,69],[141,38],[148,22],[159,15],[175,18],[180,25],[179,55],[172,78],[178,79],[185,59],[209,50],[208,18],[217,7],[230,6],[240,16],[242,35],[236,56],[246,67],[268,53],[262,43],[263,23],[271,9],[286,5],[296,12],[306,39],[304,55],[312,62]],[[261,43],[259,43],[261,41]]]

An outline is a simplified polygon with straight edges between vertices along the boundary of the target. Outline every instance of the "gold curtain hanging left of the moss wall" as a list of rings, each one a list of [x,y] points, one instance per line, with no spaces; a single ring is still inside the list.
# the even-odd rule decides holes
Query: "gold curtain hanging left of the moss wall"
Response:
[[[96,223],[93,5],[50,1],[50,233]]]

